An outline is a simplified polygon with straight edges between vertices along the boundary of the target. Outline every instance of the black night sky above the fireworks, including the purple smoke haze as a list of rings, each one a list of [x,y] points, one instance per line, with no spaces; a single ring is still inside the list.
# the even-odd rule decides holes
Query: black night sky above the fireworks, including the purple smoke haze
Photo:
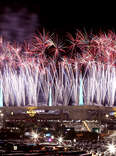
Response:
[[[101,4],[95,0],[89,3],[84,0],[76,2],[1,0],[0,34],[8,40],[23,41],[43,27],[59,34],[76,29],[93,32],[116,29],[113,4]]]

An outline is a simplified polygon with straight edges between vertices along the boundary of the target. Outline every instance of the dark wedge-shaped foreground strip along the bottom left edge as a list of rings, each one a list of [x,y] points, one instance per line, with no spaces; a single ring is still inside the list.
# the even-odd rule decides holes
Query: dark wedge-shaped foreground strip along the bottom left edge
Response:
[[[0,141],[0,156],[9,156],[9,155],[26,155],[26,156],[91,156],[87,154],[86,151],[74,149],[73,146],[63,147],[63,146],[51,146],[51,145],[32,145],[32,144],[23,144],[16,142]]]

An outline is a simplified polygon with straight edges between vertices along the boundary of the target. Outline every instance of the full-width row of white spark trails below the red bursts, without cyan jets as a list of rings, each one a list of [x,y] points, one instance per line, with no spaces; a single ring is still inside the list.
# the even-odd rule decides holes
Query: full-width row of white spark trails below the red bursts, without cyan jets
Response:
[[[101,65],[98,69],[95,65],[92,65],[92,67],[87,78],[83,79],[84,92],[86,93],[85,103],[91,104],[96,100],[97,105],[101,105],[106,99],[108,104],[113,106],[116,92],[115,68],[108,67],[105,69]],[[19,73],[9,67],[5,68],[3,74],[1,74],[5,105],[25,106],[27,98],[28,104],[37,106],[40,90],[42,90],[47,103],[49,86],[53,91],[54,105],[57,105],[58,101],[62,101],[63,105],[67,105],[70,98],[73,99],[74,105],[78,105],[78,70],[74,71],[69,64],[65,67],[60,64],[59,68],[59,73],[55,73],[55,76],[50,71],[50,67],[45,69],[44,75],[40,73],[38,67],[33,69],[26,66],[25,70],[20,69]]]

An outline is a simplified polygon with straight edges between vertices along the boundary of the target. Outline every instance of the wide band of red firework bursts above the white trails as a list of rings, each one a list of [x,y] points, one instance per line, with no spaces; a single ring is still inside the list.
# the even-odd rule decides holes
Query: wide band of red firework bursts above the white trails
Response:
[[[68,34],[69,46],[64,46],[58,35],[50,36],[43,29],[35,35],[32,42],[25,42],[24,46],[3,41],[0,38],[0,65],[23,66],[23,64],[38,64],[47,66],[50,62],[62,60],[65,63],[80,66],[91,65],[92,62],[104,65],[116,65],[116,34],[89,35],[77,31],[75,37]],[[69,57],[70,56],[70,57]],[[52,58],[52,59],[51,59]],[[64,59],[65,58],[65,59]],[[64,61],[66,60],[66,61]]]

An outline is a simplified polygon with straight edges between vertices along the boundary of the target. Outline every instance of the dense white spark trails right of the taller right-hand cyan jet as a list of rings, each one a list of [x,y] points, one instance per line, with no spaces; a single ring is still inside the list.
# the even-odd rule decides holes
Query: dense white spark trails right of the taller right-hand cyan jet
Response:
[[[116,69],[112,66],[92,65],[89,75],[84,82],[85,101],[87,104],[94,103],[101,105],[107,101],[106,105],[113,106],[116,93]]]

